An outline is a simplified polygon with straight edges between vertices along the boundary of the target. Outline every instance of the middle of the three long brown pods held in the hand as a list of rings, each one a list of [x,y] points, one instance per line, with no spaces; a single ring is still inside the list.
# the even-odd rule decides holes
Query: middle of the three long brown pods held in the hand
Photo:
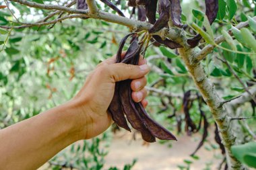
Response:
[[[125,64],[130,64],[135,56],[139,56],[140,48],[141,47],[139,46],[137,39],[133,40],[122,62]],[[131,98],[131,80],[119,82],[119,97],[121,100],[123,112],[127,116],[127,120],[131,126],[141,132],[143,140],[146,140],[147,142],[155,142],[156,138],[146,128],[145,124],[143,124],[143,120],[137,112],[133,103],[133,99]]]

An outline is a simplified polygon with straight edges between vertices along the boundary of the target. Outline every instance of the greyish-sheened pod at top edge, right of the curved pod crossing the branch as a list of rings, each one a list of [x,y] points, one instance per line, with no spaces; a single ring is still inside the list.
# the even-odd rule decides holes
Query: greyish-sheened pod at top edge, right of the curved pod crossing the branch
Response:
[[[179,28],[183,28],[183,24],[181,22],[181,1],[180,0],[170,0],[171,9],[170,9],[170,18],[172,19],[172,23],[174,26]]]

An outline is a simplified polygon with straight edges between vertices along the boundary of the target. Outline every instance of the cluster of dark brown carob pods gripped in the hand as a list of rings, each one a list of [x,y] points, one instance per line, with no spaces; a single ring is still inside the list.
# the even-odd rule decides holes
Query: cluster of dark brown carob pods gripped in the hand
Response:
[[[127,38],[131,35],[132,34],[129,34],[125,36],[123,40],[121,40],[119,50],[117,52],[116,62],[121,61],[121,51],[125,44],[125,40],[127,40]],[[134,35],[136,34],[133,34],[133,36]],[[138,43],[138,37],[136,36],[121,62],[125,64],[138,65],[141,48],[143,47],[143,42],[145,42],[145,40],[146,39],[143,39],[142,42]],[[160,126],[160,124],[148,116],[141,103],[136,103],[133,101],[131,93],[131,80],[116,83],[115,94],[113,101],[110,103],[108,111],[110,111],[113,120],[115,122],[117,121],[117,125],[121,125],[121,127],[130,130],[127,126],[126,120],[124,120],[125,116],[121,116],[121,114],[125,114],[131,126],[141,132],[143,140],[146,140],[147,142],[155,142],[156,138],[163,140],[176,140],[173,134],[168,132],[168,130]]]

